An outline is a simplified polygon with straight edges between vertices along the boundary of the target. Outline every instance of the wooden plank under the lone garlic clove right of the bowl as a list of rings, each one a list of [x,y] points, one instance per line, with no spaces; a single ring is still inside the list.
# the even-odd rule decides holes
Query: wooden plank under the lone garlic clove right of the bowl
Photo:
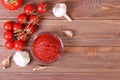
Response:
[[[5,42],[2,27],[5,21],[0,20],[0,45]],[[73,30],[74,37],[66,37],[61,32],[63,29]],[[43,20],[36,34],[44,31],[57,33],[65,46],[120,46],[120,20]],[[30,43],[31,40],[26,46]]]

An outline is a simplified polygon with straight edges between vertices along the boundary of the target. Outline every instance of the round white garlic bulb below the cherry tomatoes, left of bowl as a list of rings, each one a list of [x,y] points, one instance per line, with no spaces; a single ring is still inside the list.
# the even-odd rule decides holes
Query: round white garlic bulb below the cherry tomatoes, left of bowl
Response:
[[[13,60],[20,67],[25,67],[30,62],[30,56],[27,51],[16,51]]]

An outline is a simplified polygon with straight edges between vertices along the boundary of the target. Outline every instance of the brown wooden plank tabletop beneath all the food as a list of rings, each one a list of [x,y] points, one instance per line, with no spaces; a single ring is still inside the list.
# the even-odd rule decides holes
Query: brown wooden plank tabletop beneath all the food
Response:
[[[15,11],[8,11],[0,4],[0,61],[15,53],[15,50],[9,51],[4,47],[3,23],[16,20],[26,4],[40,2],[23,1],[23,5]],[[120,80],[120,0],[46,1],[50,10],[41,17],[37,32],[59,34],[64,41],[64,54],[39,72],[32,71],[39,64],[34,59],[25,68],[16,66],[12,60],[10,68],[0,68],[0,80]],[[67,4],[72,22],[53,16],[52,7],[57,2]],[[74,37],[66,37],[61,29],[73,30]],[[26,43],[26,50],[30,50],[30,41]]]

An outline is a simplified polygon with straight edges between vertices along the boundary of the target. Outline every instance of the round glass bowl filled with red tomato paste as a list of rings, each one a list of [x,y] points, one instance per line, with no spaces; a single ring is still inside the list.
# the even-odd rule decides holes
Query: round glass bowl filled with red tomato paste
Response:
[[[62,53],[61,39],[53,33],[43,33],[34,40],[32,51],[42,62],[52,62]]]

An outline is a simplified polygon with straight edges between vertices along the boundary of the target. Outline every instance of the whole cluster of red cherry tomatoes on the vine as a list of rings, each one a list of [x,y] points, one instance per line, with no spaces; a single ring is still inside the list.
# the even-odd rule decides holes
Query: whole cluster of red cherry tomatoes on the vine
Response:
[[[44,2],[40,2],[37,9],[32,5],[26,5],[24,13],[18,15],[17,22],[5,22],[3,25],[5,30],[4,39],[6,40],[5,47],[7,49],[22,50],[24,42],[35,32],[36,25],[39,25],[41,14],[45,14],[47,9],[47,4]]]

